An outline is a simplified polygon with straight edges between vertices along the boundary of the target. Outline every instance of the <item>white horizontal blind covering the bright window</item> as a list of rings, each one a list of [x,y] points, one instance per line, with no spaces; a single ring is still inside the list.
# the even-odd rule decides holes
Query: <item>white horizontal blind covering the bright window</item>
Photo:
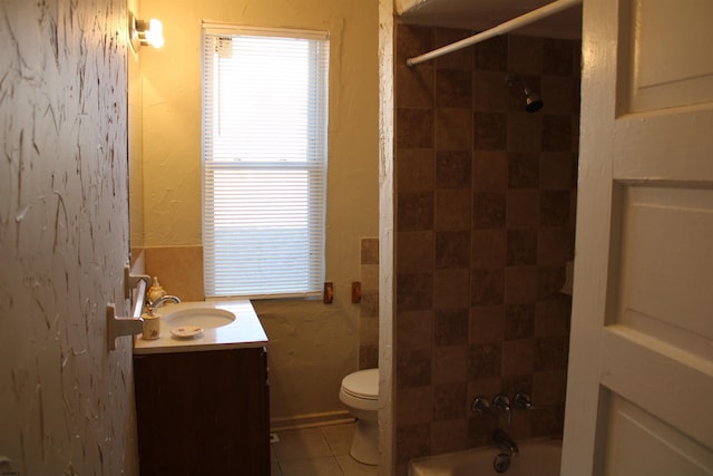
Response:
[[[203,25],[206,297],[320,295],[326,33]]]

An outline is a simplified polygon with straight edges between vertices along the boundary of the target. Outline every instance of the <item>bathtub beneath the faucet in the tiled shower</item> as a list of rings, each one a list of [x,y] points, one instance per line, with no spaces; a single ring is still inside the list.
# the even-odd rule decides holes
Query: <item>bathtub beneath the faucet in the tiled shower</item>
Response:
[[[559,476],[561,439],[531,440],[518,444],[519,456],[512,458],[505,476]],[[492,476],[495,458],[502,451],[495,447],[413,459],[409,476]]]

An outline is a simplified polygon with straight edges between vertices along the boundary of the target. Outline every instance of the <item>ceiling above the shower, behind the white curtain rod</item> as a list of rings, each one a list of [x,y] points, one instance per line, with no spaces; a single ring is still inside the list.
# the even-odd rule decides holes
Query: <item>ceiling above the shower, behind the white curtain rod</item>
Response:
[[[420,0],[399,16],[404,23],[484,31],[551,0]],[[549,38],[582,37],[582,3],[514,30]]]

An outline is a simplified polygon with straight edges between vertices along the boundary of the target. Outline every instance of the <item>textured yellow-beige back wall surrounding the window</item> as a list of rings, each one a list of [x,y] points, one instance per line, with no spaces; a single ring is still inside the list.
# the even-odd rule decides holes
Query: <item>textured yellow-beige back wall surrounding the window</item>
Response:
[[[378,234],[378,1],[144,0],[145,18],[160,18],[166,45],[141,50],[144,243],[147,272],[168,283],[152,249],[201,245],[201,20],[326,30],[331,40],[326,280],[335,299],[262,301],[255,307],[270,337],[272,416],[280,421],[340,411],[341,379],[358,368],[360,241]],[[166,256],[162,252],[162,256]],[[165,261],[164,261],[165,262]],[[193,263],[193,264],[192,264]],[[170,266],[172,273],[176,266]],[[188,293],[188,291],[186,291]],[[189,290],[191,294],[195,290]]]

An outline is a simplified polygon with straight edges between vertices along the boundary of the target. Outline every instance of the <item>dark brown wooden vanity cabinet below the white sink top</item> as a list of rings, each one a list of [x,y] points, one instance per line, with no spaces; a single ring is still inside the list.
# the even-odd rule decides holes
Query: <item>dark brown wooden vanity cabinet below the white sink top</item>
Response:
[[[265,348],[134,356],[141,476],[270,475]]]

